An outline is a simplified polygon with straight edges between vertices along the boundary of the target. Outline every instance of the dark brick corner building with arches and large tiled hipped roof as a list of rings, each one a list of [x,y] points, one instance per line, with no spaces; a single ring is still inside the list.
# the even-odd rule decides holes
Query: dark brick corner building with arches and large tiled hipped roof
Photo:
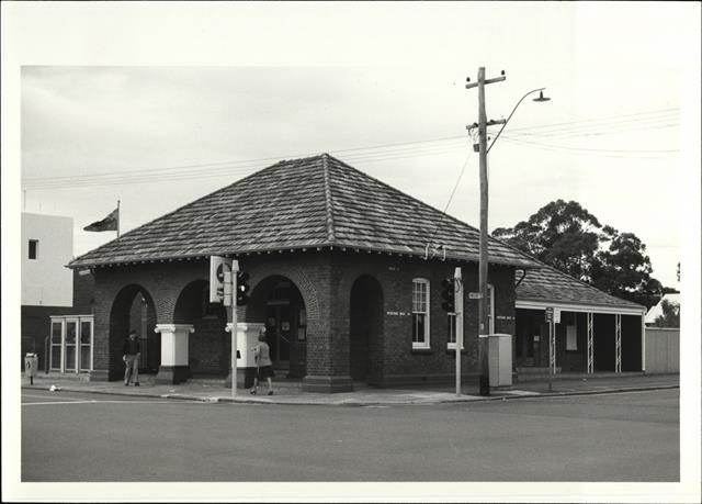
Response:
[[[143,337],[160,343],[149,358],[157,380],[224,379],[229,314],[208,302],[217,255],[250,275],[239,322],[267,326],[274,367],[304,390],[449,381],[455,315],[441,309],[441,281],[461,266],[465,291],[477,291],[478,236],[329,155],[278,163],[70,262],[94,278],[91,379],[121,377],[135,300]],[[514,334],[516,271],[535,262],[492,239],[489,257],[490,332]],[[477,301],[463,302],[468,378],[478,372]]]

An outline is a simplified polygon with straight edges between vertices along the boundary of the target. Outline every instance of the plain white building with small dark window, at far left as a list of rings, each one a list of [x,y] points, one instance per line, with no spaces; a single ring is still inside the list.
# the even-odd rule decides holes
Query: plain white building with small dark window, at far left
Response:
[[[73,220],[22,213],[22,305],[72,306]]]

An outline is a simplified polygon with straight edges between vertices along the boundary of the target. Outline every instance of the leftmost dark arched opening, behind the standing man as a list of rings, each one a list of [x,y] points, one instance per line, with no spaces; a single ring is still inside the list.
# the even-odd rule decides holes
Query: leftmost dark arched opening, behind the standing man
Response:
[[[122,357],[122,341],[129,331],[137,332],[141,343],[139,372],[155,373],[161,365],[161,338],[154,332],[156,305],[141,285],[127,285],[116,295],[110,312],[110,340],[116,360]]]

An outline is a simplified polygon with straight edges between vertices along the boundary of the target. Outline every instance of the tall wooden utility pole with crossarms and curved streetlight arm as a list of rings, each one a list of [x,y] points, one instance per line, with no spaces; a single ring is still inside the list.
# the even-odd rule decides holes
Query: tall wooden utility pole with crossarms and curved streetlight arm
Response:
[[[488,265],[488,254],[487,254],[487,210],[488,210],[488,186],[487,186],[487,153],[495,145],[497,138],[500,136],[505,126],[512,115],[517,108],[521,104],[521,102],[528,96],[540,91],[539,98],[535,98],[534,101],[543,102],[548,101],[550,98],[545,98],[543,94],[543,90],[546,88],[539,88],[532,91],[529,91],[524,94],[514,105],[512,112],[509,114],[507,120],[500,121],[490,121],[490,125],[492,124],[502,124],[502,127],[496,135],[495,139],[490,144],[490,147],[487,146],[487,116],[485,114],[485,85],[499,82],[507,79],[505,76],[505,70],[502,70],[499,77],[495,77],[492,79],[485,78],[485,67],[478,68],[478,79],[477,82],[471,82],[471,79],[466,79],[468,83],[465,85],[466,89],[478,88],[478,139],[479,139],[479,153],[480,153],[480,256],[478,262],[478,282],[479,282],[479,299],[478,299],[478,355],[480,361],[480,395],[490,395],[490,374],[489,374],[489,359],[488,359],[488,334],[489,328],[487,327],[487,265]],[[474,125],[475,126],[475,125]],[[472,128],[474,126],[469,126]]]

